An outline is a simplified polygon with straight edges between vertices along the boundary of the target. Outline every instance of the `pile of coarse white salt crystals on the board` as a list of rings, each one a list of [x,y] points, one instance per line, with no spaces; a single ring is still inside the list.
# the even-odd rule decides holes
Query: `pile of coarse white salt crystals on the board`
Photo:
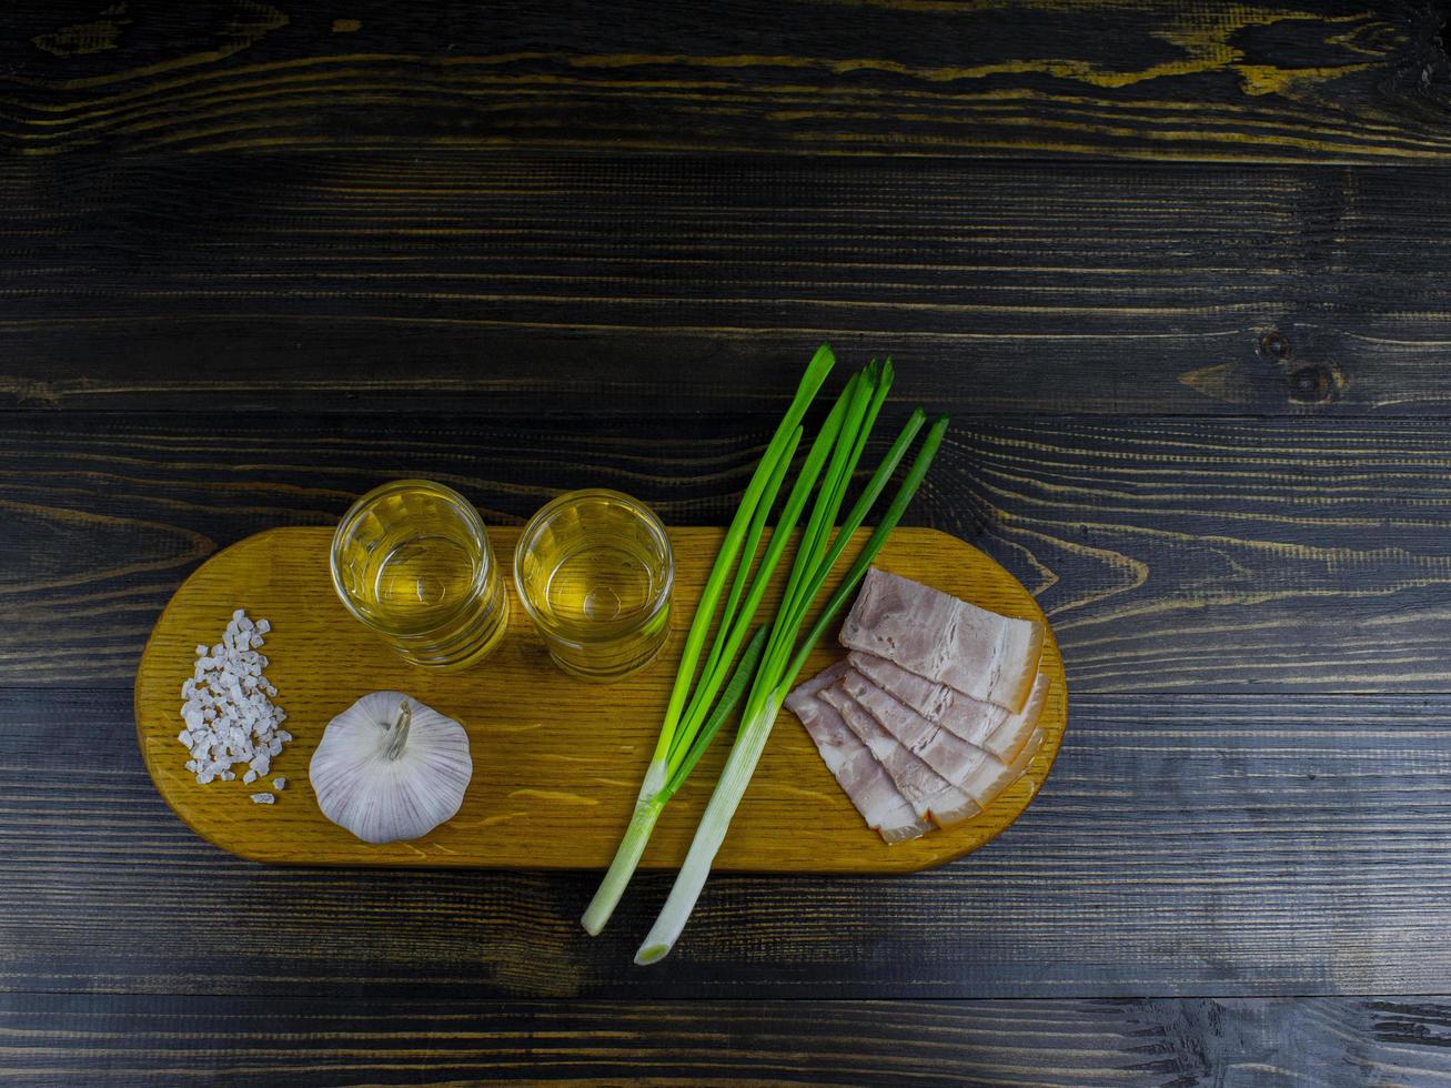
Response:
[[[216,779],[232,782],[237,763],[247,765],[242,782],[251,785],[271,770],[273,757],[292,740],[292,734],[280,728],[287,715],[271,702],[277,689],[263,675],[267,659],[257,653],[270,630],[266,619],[254,624],[247,611],[238,608],[221,643],[196,647],[192,679],[181,685],[186,728],[177,740],[192,753],[186,769],[202,785]],[[271,804],[273,795],[252,794],[252,801]]]

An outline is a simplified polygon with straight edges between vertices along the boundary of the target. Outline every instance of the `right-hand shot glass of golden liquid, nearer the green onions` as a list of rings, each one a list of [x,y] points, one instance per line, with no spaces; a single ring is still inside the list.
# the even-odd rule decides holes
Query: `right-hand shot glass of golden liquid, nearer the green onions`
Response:
[[[569,492],[519,534],[514,585],[554,663],[611,683],[660,653],[675,556],[644,503],[604,489]]]

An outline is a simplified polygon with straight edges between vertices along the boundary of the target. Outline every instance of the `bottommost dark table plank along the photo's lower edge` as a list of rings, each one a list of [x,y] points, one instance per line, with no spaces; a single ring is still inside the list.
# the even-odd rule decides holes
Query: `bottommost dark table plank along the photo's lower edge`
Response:
[[[399,1001],[0,995],[6,1079],[1349,1088],[1451,1075],[1451,998]],[[266,1044],[263,1044],[266,1040]],[[598,1078],[598,1079],[596,1079]]]

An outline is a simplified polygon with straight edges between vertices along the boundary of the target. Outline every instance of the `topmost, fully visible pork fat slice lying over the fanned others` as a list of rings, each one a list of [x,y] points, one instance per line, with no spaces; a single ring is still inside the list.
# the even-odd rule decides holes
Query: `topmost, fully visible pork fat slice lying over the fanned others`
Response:
[[[842,646],[1016,714],[1037,675],[1043,625],[872,567],[842,624]]]

